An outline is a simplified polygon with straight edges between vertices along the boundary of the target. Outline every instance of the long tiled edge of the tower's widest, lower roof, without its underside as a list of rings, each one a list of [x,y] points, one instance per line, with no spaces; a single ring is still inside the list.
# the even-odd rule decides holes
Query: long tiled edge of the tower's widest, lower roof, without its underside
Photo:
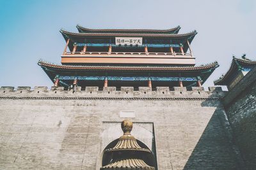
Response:
[[[181,71],[181,72],[193,72],[193,71],[206,71],[209,69],[216,69],[219,66],[218,62],[212,62],[204,66],[68,66],[57,65],[42,60],[38,61],[38,65],[41,67],[48,67],[52,69],[62,70],[76,70],[76,71]]]

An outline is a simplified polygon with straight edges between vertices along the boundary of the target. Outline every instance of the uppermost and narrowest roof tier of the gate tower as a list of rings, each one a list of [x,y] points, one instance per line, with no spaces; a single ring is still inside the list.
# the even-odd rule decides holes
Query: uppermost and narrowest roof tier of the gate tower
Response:
[[[81,25],[76,26],[81,33],[116,33],[116,34],[177,34],[180,26],[172,29],[88,29]]]

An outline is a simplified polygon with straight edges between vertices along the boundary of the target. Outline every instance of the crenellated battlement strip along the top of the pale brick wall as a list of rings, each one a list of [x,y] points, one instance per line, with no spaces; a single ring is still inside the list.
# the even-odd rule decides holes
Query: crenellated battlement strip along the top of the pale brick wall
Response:
[[[74,89],[65,90],[64,87],[1,87],[1,99],[55,99],[62,97],[63,99],[219,99],[225,96],[225,91],[221,87],[209,87],[209,91],[204,90],[204,87],[157,87],[152,90],[150,87],[139,87],[134,90],[134,87],[121,87],[117,90],[116,87],[104,87],[99,90],[99,87],[74,87]],[[53,97],[53,98],[52,98]]]

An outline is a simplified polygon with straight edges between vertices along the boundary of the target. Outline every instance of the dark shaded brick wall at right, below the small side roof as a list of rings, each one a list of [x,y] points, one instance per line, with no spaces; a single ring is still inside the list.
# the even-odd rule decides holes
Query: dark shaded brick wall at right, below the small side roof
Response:
[[[256,67],[228,92],[223,103],[236,145],[248,169],[256,167]]]

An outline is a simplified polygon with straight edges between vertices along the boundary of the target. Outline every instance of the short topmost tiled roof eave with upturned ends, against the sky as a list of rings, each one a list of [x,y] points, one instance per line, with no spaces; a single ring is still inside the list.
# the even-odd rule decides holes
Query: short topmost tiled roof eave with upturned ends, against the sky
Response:
[[[172,29],[88,29],[82,27],[81,25],[77,24],[77,29],[79,32],[156,32],[156,33],[173,33],[177,34],[180,30],[180,26],[174,27]]]

